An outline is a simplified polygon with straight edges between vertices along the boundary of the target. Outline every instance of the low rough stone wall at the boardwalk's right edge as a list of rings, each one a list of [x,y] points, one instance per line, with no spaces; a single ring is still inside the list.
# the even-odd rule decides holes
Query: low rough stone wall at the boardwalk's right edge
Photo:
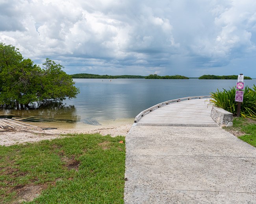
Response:
[[[225,111],[220,107],[212,106],[211,118],[219,126],[226,126],[226,127],[233,126],[233,114],[228,111]]]

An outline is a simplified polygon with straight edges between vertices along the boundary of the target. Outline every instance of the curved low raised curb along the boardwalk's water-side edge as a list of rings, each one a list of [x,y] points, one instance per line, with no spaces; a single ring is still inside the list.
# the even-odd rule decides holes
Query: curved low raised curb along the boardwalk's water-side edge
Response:
[[[143,117],[146,113],[152,112],[154,109],[156,108],[160,108],[161,106],[166,106],[170,103],[174,103],[174,102],[180,102],[182,100],[191,100],[191,99],[195,99],[195,98],[209,98],[211,97],[209,96],[197,96],[197,97],[185,97],[185,98],[178,98],[178,99],[174,99],[174,100],[167,100],[165,102],[156,104],[155,106],[152,106],[144,111],[141,111],[134,119],[134,122],[137,123],[137,121],[139,120],[139,118]]]

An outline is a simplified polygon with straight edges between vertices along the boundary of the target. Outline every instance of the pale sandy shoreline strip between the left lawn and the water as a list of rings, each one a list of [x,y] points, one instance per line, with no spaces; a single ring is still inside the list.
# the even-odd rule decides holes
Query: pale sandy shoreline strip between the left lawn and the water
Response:
[[[105,126],[91,126],[84,129],[43,129],[42,127],[5,127],[0,128],[0,145],[11,146],[14,144],[22,144],[26,142],[38,142],[40,140],[50,140],[54,138],[61,138],[66,134],[93,134],[100,133],[101,135],[117,135],[126,136],[132,127],[131,123],[105,125]]]

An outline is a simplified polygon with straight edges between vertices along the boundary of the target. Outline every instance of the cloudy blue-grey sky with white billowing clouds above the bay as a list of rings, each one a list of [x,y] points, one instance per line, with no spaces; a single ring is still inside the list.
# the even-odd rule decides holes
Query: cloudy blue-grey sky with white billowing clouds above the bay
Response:
[[[68,74],[256,78],[256,1],[0,0],[0,42]]]

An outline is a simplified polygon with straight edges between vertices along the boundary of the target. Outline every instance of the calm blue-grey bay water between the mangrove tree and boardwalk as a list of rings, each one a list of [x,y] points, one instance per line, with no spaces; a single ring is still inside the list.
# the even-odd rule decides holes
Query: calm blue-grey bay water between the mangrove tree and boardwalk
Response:
[[[99,125],[124,120],[132,122],[144,109],[171,99],[210,95],[236,86],[236,80],[150,80],[150,79],[74,79],[80,88],[77,98],[63,106],[39,110],[6,110],[0,115],[41,116],[69,119],[69,126]],[[245,80],[252,87],[256,79]]]

